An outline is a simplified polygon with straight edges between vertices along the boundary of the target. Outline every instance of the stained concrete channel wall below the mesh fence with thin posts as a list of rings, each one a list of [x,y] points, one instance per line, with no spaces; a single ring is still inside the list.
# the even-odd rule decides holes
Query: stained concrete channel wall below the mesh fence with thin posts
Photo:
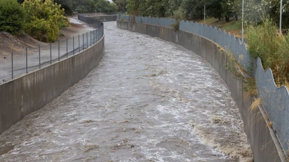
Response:
[[[99,64],[104,37],[92,47],[0,85],[0,133],[43,108]]]

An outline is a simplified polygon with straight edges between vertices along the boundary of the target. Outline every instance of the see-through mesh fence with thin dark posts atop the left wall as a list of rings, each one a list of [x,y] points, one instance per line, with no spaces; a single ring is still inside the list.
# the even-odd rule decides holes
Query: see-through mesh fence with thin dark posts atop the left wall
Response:
[[[0,81],[5,83],[19,75],[78,54],[102,38],[102,22],[80,15],[78,15],[78,19],[94,26],[96,29],[81,35],[75,35],[72,38],[50,42],[47,45],[39,44],[34,48],[23,47],[21,50],[12,51],[11,63],[0,65]]]

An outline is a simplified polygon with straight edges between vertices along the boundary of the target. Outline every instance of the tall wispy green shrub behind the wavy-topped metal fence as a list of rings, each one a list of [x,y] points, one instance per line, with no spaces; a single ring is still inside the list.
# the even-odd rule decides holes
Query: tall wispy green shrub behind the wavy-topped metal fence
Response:
[[[268,17],[261,25],[247,28],[248,51],[253,58],[260,57],[263,68],[271,68],[277,86],[289,80],[289,35],[279,35],[279,27]]]

